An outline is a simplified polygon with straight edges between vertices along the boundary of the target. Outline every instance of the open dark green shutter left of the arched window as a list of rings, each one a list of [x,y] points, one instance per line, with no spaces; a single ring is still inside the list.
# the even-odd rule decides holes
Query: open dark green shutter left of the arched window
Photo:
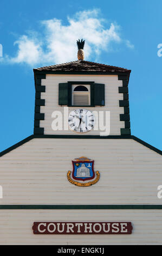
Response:
[[[59,83],[59,105],[68,105],[68,83]]]

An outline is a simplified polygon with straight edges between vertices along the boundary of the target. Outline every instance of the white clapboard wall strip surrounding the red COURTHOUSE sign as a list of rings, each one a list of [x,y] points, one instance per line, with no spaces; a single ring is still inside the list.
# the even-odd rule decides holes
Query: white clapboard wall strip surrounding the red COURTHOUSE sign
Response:
[[[33,222],[132,222],[130,235],[35,235]],[[0,210],[0,245],[162,245],[161,210]]]

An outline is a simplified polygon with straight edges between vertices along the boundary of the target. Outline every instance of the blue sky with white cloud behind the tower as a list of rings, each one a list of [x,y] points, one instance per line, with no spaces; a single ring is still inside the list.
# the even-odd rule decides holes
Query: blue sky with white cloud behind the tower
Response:
[[[33,68],[76,60],[82,37],[86,60],[132,70],[132,135],[162,149],[161,9],[160,0],[1,1],[0,151],[33,134]]]

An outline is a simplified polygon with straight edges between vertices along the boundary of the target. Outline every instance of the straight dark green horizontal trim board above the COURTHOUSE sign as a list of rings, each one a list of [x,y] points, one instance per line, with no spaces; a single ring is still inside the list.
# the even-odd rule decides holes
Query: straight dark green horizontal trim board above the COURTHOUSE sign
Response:
[[[162,205],[120,204],[120,205],[0,205],[0,210],[162,210]]]

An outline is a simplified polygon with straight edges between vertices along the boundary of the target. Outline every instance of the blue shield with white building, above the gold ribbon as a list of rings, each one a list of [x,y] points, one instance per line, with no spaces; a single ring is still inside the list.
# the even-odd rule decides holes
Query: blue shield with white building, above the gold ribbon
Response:
[[[74,180],[92,180],[95,177],[94,173],[94,161],[87,159],[86,157],[80,157],[73,163],[72,177]]]

